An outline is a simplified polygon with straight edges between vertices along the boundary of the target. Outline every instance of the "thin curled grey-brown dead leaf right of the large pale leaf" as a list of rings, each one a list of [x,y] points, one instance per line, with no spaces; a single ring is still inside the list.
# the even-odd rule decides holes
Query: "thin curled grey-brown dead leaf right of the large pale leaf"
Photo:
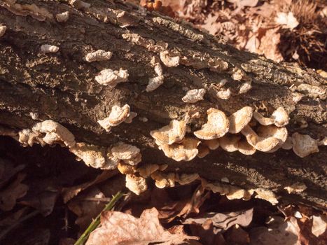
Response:
[[[183,221],[184,224],[203,224],[204,222],[211,220],[214,227],[215,233],[220,232],[221,230],[228,230],[228,228],[233,225],[242,225],[244,227],[248,226],[253,217],[253,209],[246,211],[231,212],[229,214],[220,214],[220,213],[207,213],[204,214],[201,218],[187,218]]]

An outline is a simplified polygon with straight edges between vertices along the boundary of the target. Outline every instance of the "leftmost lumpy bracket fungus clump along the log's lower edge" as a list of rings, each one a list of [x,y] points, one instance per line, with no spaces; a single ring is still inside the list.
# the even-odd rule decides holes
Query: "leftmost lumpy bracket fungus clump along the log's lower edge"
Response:
[[[32,146],[34,143],[39,143],[41,146],[60,144],[61,146],[72,147],[76,144],[74,135],[66,127],[53,120],[36,123],[32,130],[21,130],[18,134],[18,141],[23,146]]]

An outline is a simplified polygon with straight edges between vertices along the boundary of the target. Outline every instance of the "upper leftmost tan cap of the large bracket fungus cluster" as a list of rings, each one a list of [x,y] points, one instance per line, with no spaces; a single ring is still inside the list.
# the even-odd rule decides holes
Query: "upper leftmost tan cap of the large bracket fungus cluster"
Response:
[[[159,130],[152,130],[151,137],[155,139],[155,144],[158,146],[167,144],[171,145],[175,142],[180,142],[186,134],[185,120],[172,120],[169,125],[160,128]]]

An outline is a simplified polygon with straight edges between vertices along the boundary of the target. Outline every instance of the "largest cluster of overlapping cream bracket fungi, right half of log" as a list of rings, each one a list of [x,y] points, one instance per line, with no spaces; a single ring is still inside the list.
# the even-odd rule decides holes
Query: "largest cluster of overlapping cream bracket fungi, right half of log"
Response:
[[[288,113],[279,107],[270,118],[264,118],[249,106],[244,106],[229,117],[218,109],[207,110],[207,123],[200,130],[193,132],[197,139],[186,137],[186,122],[172,120],[160,130],[151,131],[151,136],[168,158],[176,161],[192,160],[195,155],[203,158],[209,150],[219,146],[224,151],[239,151],[244,155],[253,155],[256,151],[274,153],[279,148],[293,151],[301,158],[319,152],[319,145],[326,145],[326,139],[314,140],[308,135],[294,133],[288,137],[286,125]],[[256,116],[255,116],[256,115]],[[260,125],[252,129],[251,119]]]

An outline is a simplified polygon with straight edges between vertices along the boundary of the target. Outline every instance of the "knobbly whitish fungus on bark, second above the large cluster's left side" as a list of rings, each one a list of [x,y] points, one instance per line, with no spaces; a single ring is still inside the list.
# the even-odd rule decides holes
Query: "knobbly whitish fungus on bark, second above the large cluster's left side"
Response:
[[[115,87],[118,83],[126,82],[128,79],[128,71],[119,69],[119,71],[113,71],[111,69],[104,69],[95,76],[97,83],[101,85],[108,85]]]

